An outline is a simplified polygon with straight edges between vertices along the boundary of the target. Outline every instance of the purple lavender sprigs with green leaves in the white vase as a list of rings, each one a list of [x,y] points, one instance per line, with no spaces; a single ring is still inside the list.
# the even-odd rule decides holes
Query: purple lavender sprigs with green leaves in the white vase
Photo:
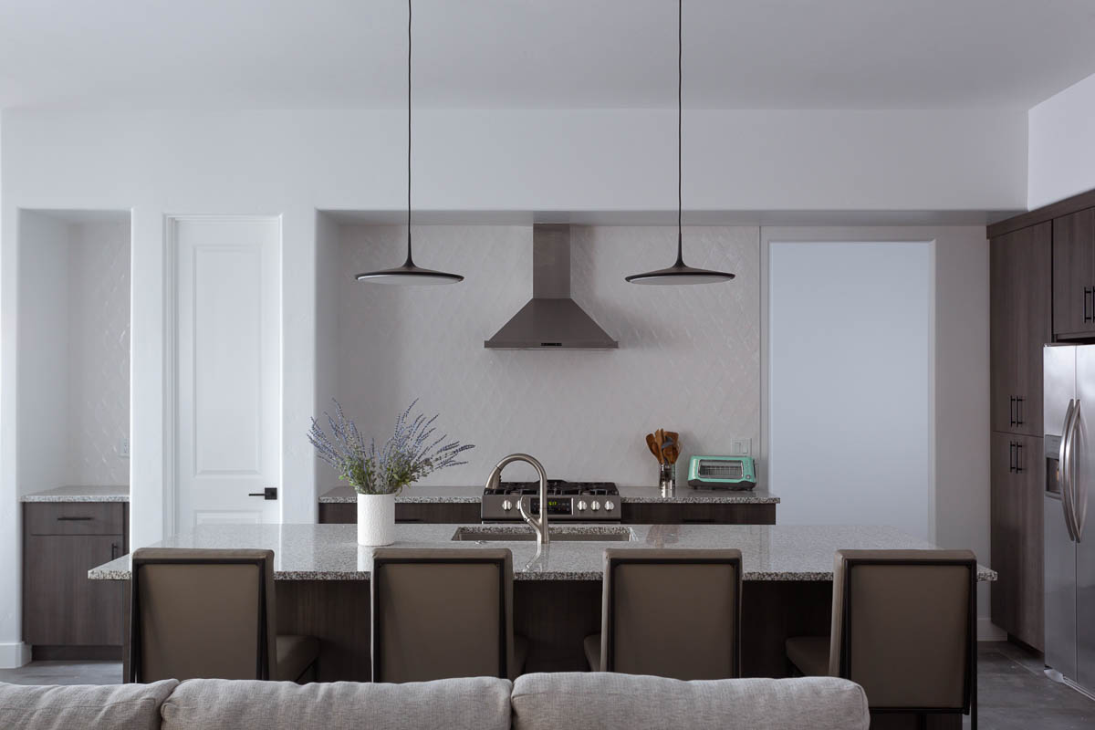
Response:
[[[448,434],[435,438],[434,422],[438,415],[411,418],[417,398],[395,419],[395,429],[378,450],[376,440],[368,448],[357,425],[346,418],[342,405],[334,401],[334,415],[324,414],[328,437],[316,419],[308,431],[308,440],[316,455],[338,472],[338,478],[349,482],[358,494],[399,494],[410,484],[442,468],[459,466],[460,454],[475,447],[449,441]],[[411,419],[410,422],[407,419]]]

